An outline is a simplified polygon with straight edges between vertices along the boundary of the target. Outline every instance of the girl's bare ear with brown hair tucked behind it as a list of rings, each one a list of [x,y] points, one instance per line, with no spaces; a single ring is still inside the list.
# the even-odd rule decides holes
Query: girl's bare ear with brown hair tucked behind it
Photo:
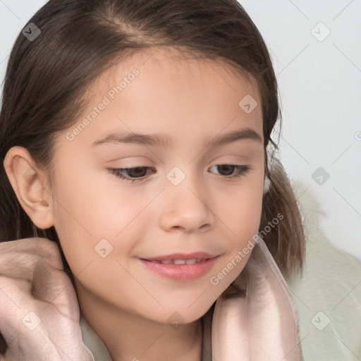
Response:
[[[32,222],[40,229],[54,226],[53,198],[45,174],[40,171],[24,147],[12,147],[6,153],[4,168],[16,197]]]

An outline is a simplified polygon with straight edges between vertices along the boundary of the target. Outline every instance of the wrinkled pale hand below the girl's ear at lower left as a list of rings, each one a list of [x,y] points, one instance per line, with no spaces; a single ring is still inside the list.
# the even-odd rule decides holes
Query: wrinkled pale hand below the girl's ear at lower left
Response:
[[[1,334],[7,344],[1,361],[94,361],[82,342],[78,298],[55,242],[0,243]]]

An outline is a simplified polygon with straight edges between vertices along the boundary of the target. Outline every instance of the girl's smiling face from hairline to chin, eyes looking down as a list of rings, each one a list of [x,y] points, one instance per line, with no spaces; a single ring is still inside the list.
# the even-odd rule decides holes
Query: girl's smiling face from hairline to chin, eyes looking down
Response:
[[[188,323],[240,274],[250,257],[242,250],[255,243],[262,110],[255,84],[226,65],[152,52],[98,78],[85,114],[57,137],[51,209],[81,307]],[[125,179],[109,170],[128,168],[118,171]],[[217,257],[208,268],[152,262],[167,274],[141,260],[193,252]]]

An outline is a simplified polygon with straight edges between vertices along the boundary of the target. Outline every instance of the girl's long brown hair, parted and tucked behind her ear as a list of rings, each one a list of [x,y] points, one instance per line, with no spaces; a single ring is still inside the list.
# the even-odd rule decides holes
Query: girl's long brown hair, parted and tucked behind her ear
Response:
[[[24,212],[4,169],[8,150],[25,147],[51,184],[54,137],[87,106],[81,94],[106,69],[149,47],[173,47],[200,59],[219,59],[257,81],[264,147],[279,118],[278,86],[269,51],[236,0],[50,0],[29,20],[41,30],[23,34],[11,51],[0,114],[0,241],[59,239],[54,227],[37,228]],[[265,152],[267,164],[267,152]],[[260,229],[276,214],[283,220],[264,235],[283,276],[302,273],[305,233],[295,194],[281,163],[266,168]],[[63,256],[63,255],[62,255]],[[68,269],[65,257],[63,262]]]

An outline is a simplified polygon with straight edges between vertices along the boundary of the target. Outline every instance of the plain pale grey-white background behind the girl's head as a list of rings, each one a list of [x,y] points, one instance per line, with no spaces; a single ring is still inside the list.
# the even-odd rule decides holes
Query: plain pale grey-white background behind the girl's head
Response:
[[[1,82],[18,33],[46,2],[0,0]],[[361,0],[240,4],[271,51],[283,111],[280,155],[290,178],[305,183],[298,197],[316,193],[329,240],[361,259]],[[322,185],[312,179],[319,167],[330,175]]]

